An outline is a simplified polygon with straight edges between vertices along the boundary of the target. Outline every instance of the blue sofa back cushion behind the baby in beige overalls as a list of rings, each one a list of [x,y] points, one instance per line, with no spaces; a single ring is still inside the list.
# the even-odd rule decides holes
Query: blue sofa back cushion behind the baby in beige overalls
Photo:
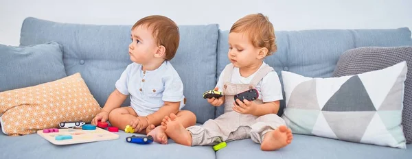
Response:
[[[219,32],[218,70],[229,64],[227,59],[229,31]],[[266,64],[277,71],[290,71],[307,77],[332,77],[339,56],[348,49],[357,47],[412,46],[411,31],[398,29],[316,29],[301,31],[277,31],[277,52],[265,59]],[[218,76],[217,76],[218,77]],[[279,116],[283,114],[284,100],[280,102]],[[222,114],[218,108],[216,115]]]

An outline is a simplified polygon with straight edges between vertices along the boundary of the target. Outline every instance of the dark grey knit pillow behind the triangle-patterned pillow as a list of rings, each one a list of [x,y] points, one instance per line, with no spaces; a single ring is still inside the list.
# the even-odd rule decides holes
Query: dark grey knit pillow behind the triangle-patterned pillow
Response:
[[[345,51],[339,58],[334,77],[356,75],[384,69],[407,61],[407,80],[404,82],[402,126],[407,143],[412,143],[412,47],[361,47]]]

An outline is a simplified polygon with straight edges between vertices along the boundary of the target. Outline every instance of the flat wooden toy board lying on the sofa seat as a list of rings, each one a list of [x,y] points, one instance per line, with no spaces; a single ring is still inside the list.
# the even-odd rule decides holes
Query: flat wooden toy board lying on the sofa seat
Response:
[[[43,133],[43,130],[38,130],[37,134],[49,140],[50,143],[54,145],[71,145],[78,143],[90,143],[102,140],[115,140],[119,138],[118,134],[113,132],[108,132],[100,127],[96,127],[96,130],[82,130],[81,128],[76,129],[58,129],[59,132],[49,132]],[[71,135],[73,138],[68,140],[56,140],[56,136],[61,135]]]

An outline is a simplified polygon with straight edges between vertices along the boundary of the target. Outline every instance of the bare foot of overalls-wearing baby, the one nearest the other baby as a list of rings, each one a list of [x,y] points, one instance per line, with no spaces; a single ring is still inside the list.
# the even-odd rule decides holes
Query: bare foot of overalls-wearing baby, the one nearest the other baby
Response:
[[[166,134],[174,140],[174,142],[181,145],[192,146],[192,134],[183,127],[183,125],[177,120],[176,114],[170,114],[170,117],[166,116],[161,125]]]

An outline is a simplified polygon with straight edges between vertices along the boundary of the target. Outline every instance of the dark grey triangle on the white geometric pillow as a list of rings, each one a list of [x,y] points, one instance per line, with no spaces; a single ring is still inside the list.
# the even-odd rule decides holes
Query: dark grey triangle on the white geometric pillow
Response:
[[[354,75],[342,84],[332,97],[325,103],[323,111],[331,112],[359,112],[376,111],[365,86],[358,75]]]

